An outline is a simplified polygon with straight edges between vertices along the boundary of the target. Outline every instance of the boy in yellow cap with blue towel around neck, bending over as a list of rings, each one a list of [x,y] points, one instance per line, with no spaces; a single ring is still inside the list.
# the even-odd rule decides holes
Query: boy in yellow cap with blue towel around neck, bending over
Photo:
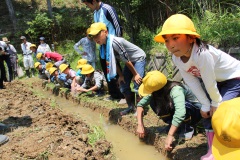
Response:
[[[120,114],[126,115],[135,107],[134,93],[131,92],[130,83],[134,77],[134,90],[137,91],[144,77],[146,54],[141,48],[124,38],[108,34],[107,27],[102,22],[93,23],[89,35],[96,43],[102,45],[102,52],[106,55],[107,80],[113,79],[117,73],[119,75],[120,91],[128,104],[128,108]],[[120,60],[125,64],[123,71],[117,65],[117,61]]]

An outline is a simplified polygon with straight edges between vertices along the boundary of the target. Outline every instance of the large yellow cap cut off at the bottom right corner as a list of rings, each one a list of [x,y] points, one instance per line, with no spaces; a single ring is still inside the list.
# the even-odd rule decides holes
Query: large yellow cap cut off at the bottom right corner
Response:
[[[217,160],[240,157],[240,98],[221,103],[212,117],[212,152]]]

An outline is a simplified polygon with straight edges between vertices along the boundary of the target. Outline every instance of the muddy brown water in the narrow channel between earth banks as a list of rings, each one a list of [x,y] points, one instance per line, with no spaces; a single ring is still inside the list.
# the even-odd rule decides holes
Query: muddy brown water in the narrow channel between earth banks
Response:
[[[167,160],[153,146],[140,142],[137,136],[125,131],[120,126],[110,124],[100,113],[69,101],[66,102],[61,98],[58,98],[57,105],[66,113],[78,115],[89,125],[103,126],[106,139],[112,143],[117,160]]]

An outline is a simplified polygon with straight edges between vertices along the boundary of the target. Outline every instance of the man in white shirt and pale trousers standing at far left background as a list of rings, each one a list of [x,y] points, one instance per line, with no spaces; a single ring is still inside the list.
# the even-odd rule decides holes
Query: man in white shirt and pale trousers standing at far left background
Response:
[[[30,69],[32,70],[32,77],[34,77],[34,65],[32,51],[30,50],[31,43],[27,41],[25,36],[21,36],[22,40],[21,48],[23,51],[23,65],[26,71],[26,75],[30,78]]]

